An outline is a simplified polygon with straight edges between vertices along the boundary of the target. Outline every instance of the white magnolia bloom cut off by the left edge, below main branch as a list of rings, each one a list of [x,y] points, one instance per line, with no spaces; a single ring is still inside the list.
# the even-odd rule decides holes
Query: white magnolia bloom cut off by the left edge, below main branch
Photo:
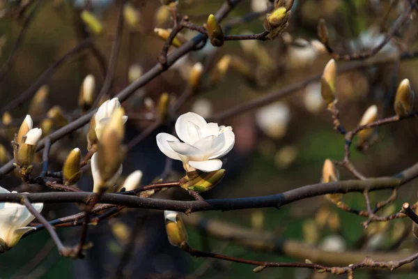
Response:
[[[7,194],[10,192],[0,187],[0,193]],[[42,203],[32,205],[36,211],[42,211]],[[33,227],[25,227],[33,219],[35,219],[35,216],[21,204],[0,203],[0,253],[15,246],[25,232],[34,229]]]

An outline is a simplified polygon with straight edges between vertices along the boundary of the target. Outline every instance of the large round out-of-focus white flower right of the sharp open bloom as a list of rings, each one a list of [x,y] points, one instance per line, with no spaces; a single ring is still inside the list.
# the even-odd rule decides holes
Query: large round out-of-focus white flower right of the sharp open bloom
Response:
[[[274,103],[256,112],[258,127],[260,127],[265,135],[276,139],[286,134],[290,118],[291,110],[284,103]]]

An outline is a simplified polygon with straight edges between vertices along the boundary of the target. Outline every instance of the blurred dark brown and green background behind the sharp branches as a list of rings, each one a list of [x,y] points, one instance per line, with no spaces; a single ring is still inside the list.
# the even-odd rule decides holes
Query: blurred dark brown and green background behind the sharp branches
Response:
[[[218,0],[179,0],[178,10],[181,15],[189,15],[195,24],[202,25],[208,14],[215,13],[222,3]],[[114,82],[103,100],[114,96],[157,63],[164,40],[155,34],[154,29],[172,27],[171,14],[167,7],[161,6],[160,1],[136,0],[129,4],[138,21],[132,23],[125,18]],[[108,63],[121,5],[122,1],[112,0],[1,0],[0,65],[7,62],[25,20],[33,10],[35,12],[25,27],[22,43],[17,47],[13,62],[0,76],[0,108],[30,89],[45,70],[86,38],[93,40],[99,56],[103,57],[104,63]],[[407,0],[295,0],[288,29],[278,38],[265,42],[227,41],[219,48],[207,43],[203,49],[179,59],[173,67],[138,89],[123,103],[129,116],[125,141],[130,142],[153,124],[139,116],[152,116],[155,113],[154,104],[161,93],[169,93],[172,99],[182,95],[187,89],[189,71],[196,62],[208,67],[201,90],[180,107],[167,125],[157,128],[132,148],[123,164],[123,174],[141,169],[144,172],[142,185],[147,185],[162,174],[164,166],[167,166],[166,158],[157,149],[155,135],[171,133],[179,114],[193,111],[210,118],[235,105],[320,75],[330,59],[323,45],[317,41],[316,27],[320,18],[326,20],[330,43],[337,52],[362,52],[383,40],[385,33],[408,5]],[[262,12],[268,7],[269,2],[264,0],[241,1],[224,22]],[[101,33],[95,33],[92,26],[82,20],[80,15],[83,10],[88,10],[102,24]],[[263,31],[263,19],[264,16],[255,17],[251,22],[233,26],[229,33],[260,33]],[[370,105],[378,106],[379,117],[394,115],[394,94],[398,83],[404,78],[410,80],[412,89],[418,86],[417,61],[400,61],[398,58],[401,53],[416,49],[416,23],[415,13],[412,13],[411,19],[369,60],[368,65],[337,77],[337,106],[341,123],[348,130],[357,126]],[[191,31],[182,33],[187,38],[196,34]],[[44,96],[42,105],[33,108],[36,102],[28,98],[22,105],[8,110],[10,116],[3,114],[1,154],[4,155],[1,156],[1,165],[10,159],[10,140],[28,112],[45,133],[83,114],[78,100],[84,77],[89,74],[95,77],[96,94],[104,81],[106,68],[97,57],[89,48],[69,56],[42,82],[47,87],[40,89],[44,93],[36,94],[38,98]],[[226,70],[222,70],[225,61],[228,61],[228,65]],[[353,62],[341,62],[339,66],[347,63]],[[145,94],[149,98],[144,98]],[[62,121],[52,119],[52,123],[43,123],[54,106],[61,108],[64,116]],[[7,122],[8,117],[11,122]],[[415,121],[415,118],[411,118],[383,126],[378,130],[375,142],[366,151],[357,151],[353,146],[354,165],[365,176],[390,176],[416,163],[418,126]],[[343,158],[344,139],[332,128],[330,113],[320,96],[318,79],[280,98],[277,103],[221,119],[219,125],[232,126],[236,142],[224,162],[224,180],[217,188],[203,193],[205,199],[272,195],[318,183],[324,160]],[[86,129],[80,129],[54,144],[54,159],[49,169],[60,170],[70,149],[79,147],[85,154],[85,136]],[[40,157],[35,172],[40,170]],[[353,179],[345,169],[339,170],[341,180]],[[181,163],[175,161],[166,180],[179,179],[183,175]],[[0,183],[8,190],[45,190],[38,186],[22,185],[13,174],[3,178]],[[90,171],[85,172],[78,186],[83,190],[91,190],[92,185]],[[371,193],[371,200],[376,203],[389,195],[389,190]],[[181,189],[170,189],[153,197],[192,200]],[[401,188],[396,202],[388,206],[382,215],[395,213],[403,202],[414,203],[416,197],[416,182],[412,181]],[[361,194],[348,194],[343,200],[354,208],[365,208]],[[47,204],[42,211],[48,220],[77,212],[77,204]],[[197,216],[224,220],[251,229],[254,233],[268,232],[284,242],[297,241],[334,252],[412,252],[417,249],[415,238],[411,234],[403,234],[410,230],[410,220],[374,223],[364,229],[361,225],[364,218],[336,209],[324,197],[302,200],[281,209],[208,211]],[[233,241],[220,241],[208,232],[196,230],[192,221],[187,223],[187,218],[185,223],[189,224],[189,243],[194,248],[268,262],[304,261],[280,252],[258,252]],[[136,232],[133,240],[132,231]],[[57,229],[57,232],[64,243],[78,243],[77,227]],[[93,248],[88,250],[86,258],[72,261],[59,257],[47,232],[33,234],[0,255],[0,278],[339,278],[303,269],[267,269],[254,273],[251,266],[190,257],[169,245],[160,211],[127,210],[118,218],[104,220],[89,229],[88,241],[93,242]],[[397,241],[398,245],[394,245]],[[128,252],[127,247],[131,248]],[[416,275],[356,271],[355,278],[416,278]]]

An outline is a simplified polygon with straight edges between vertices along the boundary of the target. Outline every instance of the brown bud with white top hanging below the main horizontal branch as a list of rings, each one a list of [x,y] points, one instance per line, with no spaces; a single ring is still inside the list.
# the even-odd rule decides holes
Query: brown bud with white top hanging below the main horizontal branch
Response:
[[[164,219],[170,244],[180,247],[188,239],[183,220],[178,212],[168,210],[164,211]]]

